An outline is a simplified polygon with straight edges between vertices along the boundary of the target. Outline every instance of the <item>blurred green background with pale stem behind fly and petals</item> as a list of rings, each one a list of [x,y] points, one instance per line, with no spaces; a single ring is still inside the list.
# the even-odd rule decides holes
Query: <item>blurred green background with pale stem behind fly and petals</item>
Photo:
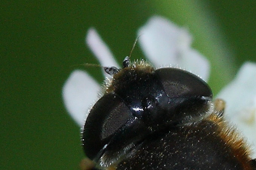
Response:
[[[186,27],[192,46],[211,61],[215,94],[244,61],[256,61],[254,0],[4,0],[0,9],[0,169],[79,168],[80,130],[64,108],[61,90],[74,65],[97,63],[84,43],[89,27],[98,30],[118,62],[152,15]],[[132,59],[142,57],[137,45]],[[98,68],[84,69],[103,80]]]

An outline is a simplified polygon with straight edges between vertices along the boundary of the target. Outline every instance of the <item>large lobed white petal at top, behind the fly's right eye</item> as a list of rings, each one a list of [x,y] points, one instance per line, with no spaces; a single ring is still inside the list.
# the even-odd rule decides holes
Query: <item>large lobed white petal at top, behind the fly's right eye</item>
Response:
[[[197,51],[190,48],[191,36],[162,17],[152,17],[139,29],[140,45],[155,66],[179,65],[204,80],[209,76],[209,63]]]

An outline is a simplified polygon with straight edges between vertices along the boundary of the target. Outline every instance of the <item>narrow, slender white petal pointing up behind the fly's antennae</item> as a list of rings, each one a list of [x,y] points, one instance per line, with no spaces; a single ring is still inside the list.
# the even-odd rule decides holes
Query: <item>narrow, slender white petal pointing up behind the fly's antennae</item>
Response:
[[[91,28],[85,38],[86,44],[97,57],[101,66],[118,66],[108,46],[102,41],[95,29]]]

